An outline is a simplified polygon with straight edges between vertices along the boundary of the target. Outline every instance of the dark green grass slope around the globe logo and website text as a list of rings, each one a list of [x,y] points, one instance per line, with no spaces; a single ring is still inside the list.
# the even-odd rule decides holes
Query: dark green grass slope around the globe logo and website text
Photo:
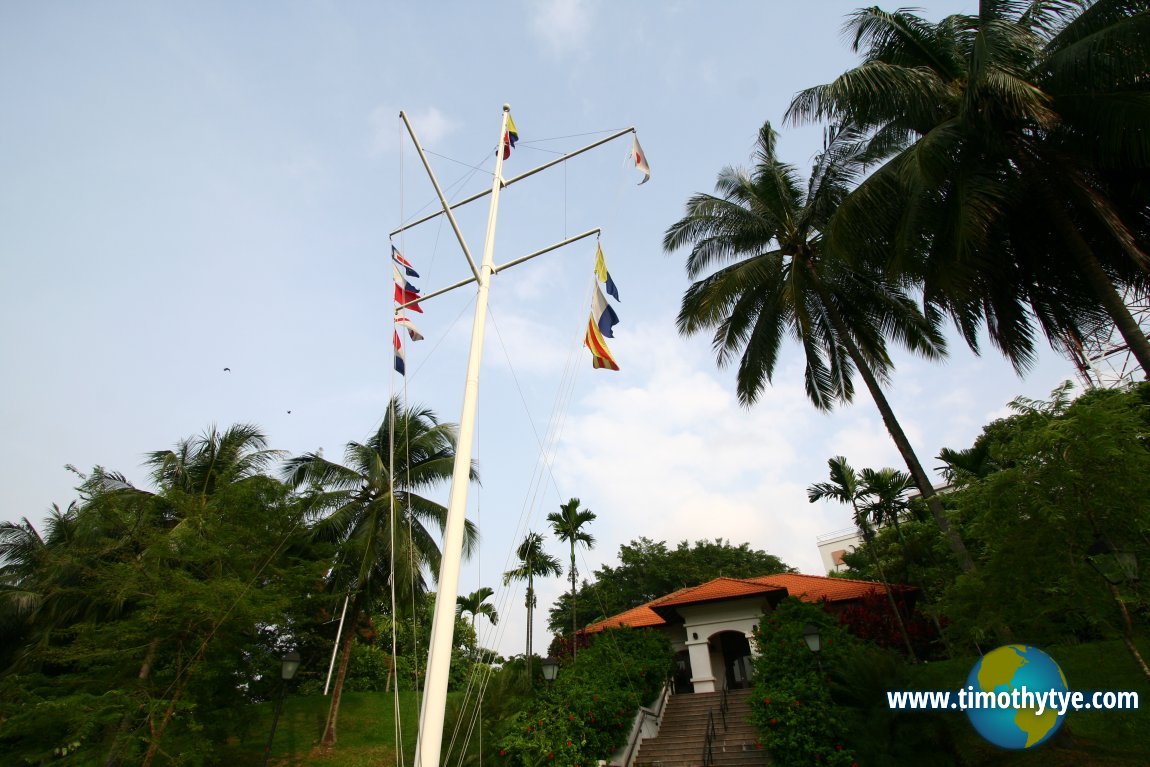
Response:
[[[1142,675],[1121,642],[1042,647],[1058,661],[1071,690],[1136,690],[1137,711],[1080,711],[1066,714],[1057,736],[1032,751],[1004,751],[974,730],[961,713],[946,718],[958,750],[959,764],[987,767],[1145,767],[1150,765],[1150,681]],[[1150,642],[1140,641],[1143,658]],[[974,658],[925,664],[912,669],[920,690],[958,690]]]

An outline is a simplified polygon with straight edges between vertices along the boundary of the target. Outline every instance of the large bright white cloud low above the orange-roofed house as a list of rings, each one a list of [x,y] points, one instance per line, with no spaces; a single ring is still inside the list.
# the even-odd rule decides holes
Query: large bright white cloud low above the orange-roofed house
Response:
[[[555,463],[560,484],[599,513],[603,540],[722,537],[818,572],[814,537],[826,522],[795,474],[795,435],[818,414],[798,386],[741,407],[729,375],[713,371],[705,350],[689,359],[667,327],[637,327],[613,348],[623,371],[576,405]]]

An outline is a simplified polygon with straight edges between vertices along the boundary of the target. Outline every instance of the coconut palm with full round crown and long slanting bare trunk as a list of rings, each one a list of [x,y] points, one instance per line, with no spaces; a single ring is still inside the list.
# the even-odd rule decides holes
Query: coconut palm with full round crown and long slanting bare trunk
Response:
[[[783,342],[803,348],[806,393],[821,411],[850,401],[862,378],[938,528],[964,570],[966,546],[946,520],[926,470],[882,390],[892,370],[887,338],[928,359],[944,354],[934,320],[905,285],[852,263],[823,236],[871,156],[853,129],[831,130],[804,185],[775,154],[770,123],[759,131],[752,171],[724,168],[718,194],[697,194],[664,237],[667,252],[690,246],[678,331],[714,329],[720,367],[738,356],[736,389],[752,405],[774,375]],[[704,273],[718,270],[703,276]]]

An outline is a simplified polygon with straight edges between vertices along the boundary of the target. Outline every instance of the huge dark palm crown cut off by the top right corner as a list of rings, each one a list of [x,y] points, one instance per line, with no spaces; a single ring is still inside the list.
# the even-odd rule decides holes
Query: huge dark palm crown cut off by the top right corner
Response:
[[[1143,371],[1122,298],[1150,270],[1150,2],[981,0],[930,23],[856,11],[862,63],[796,95],[788,118],[849,122],[888,156],[833,239],[875,243],[976,348],[984,322],[1020,371],[1033,323],[1056,346],[1110,319]]]

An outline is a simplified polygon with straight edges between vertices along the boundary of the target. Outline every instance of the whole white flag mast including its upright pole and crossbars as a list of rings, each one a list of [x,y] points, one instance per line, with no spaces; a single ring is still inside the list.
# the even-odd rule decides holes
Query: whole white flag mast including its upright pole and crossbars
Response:
[[[475,409],[478,402],[480,393],[480,363],[483,359],[483,332],[486,328],[488,293],[491,286],[491,275],[599,232],[598,229],[592,229],[540,251],[536,251],[535,253],[508,261],[501,267],[496,267],[494,239],[496,222],[499,214],[499,192],[504,186],[507,186],[516,181],[527,178],[528,176],[535,175],[540,170],[545,170],[546,168],[564,162],[577,154],[582,154],[588,149],[592,149],[612,139],[635,131],[634,128],[620,131],[613,136],[595,141],[582,149],[577,149],[570,154],[559,158],[558,160],[544,163],[534,170],[521,174],[511,181],[504,181],[503,148],[505,140],[504,137],[507,133],[507,121],[509,118],[509,114],[511,107],[505,103],[503,114],[499,117],[499,140],[496,144],[499,148],[496,151],[496,169],[491,182],[491,189],[488,192],[476,194],[452,206],[447,204],[447,199],[444,197],[443,190],[436,181],[435,172],[431,170],[431,164],[428,162],[427,155],[423,153],[423,147],[415,137],[415,131],[412,128],[411,121],[408,121],[406,114],[402,112],[399,113],[400,120],[404,121],[404,125],[407,126],[407,132],[412,137],[412,141],[415,144],[420,159],[423,161],[423,167],[428,171],[428,176],[431,178],[431,185],[435,186],[436,195],[439,198],[439,204],[443,207],[442,213],[446,215],[447,220],[451,222],[451,228],[455,232],[455,239],[459,240],[459,246],[462,248],[463,255],[467,258],[471,274],[475,275],[473,278],[461,281],[454,285],[404,304],[399,308],[425,301],[435,296],[442,296],[447,291],[463,285],[469,285],[471,283],[477,284],[475,294],[475,321],[471,325],[471,346],[467,358],[467,377],[463,384],[463,405],[462,412],[459,416],[459,439],[455,444],[455,463],[451,477],[451,497],[447,501],[447,520],[444,526],[443,535],[443,557],[439,565],[438,582],[439,588],[436,592],[435,615],[431,620],[431,642],[428,649],[427,683],[424,687],[423,706],[420,711],[420,733],[415,747],[416,767],[439,767],[439,757],[443,743],[443,721],[447,703],[447,675],[451,669],[451,647],[452,642],[454,641],[453,635],[455,631],[455,598],[459,596],[459,570],[463,552],[463,524],[467,516],[467,491],[470,484],[471,443],[474,442],[475,436]],[[455,221],[455,216],[452,215],[452,208],[477,200],[484,194],[491,194],[491,207],[488,212],[488,230],[483,240],[483,259],[480,266],[476,267],[475,260],[471,258],[471,252],[467,247],[467,241],[463,239],[463,233],[459,229],[459,223]],[[430,221],[438,215],[439,214],[436,213],[421,218],[420,221],[407,224],[406,227],[393,231],[392,235],[411,229],[412,227],[424,221]]]

